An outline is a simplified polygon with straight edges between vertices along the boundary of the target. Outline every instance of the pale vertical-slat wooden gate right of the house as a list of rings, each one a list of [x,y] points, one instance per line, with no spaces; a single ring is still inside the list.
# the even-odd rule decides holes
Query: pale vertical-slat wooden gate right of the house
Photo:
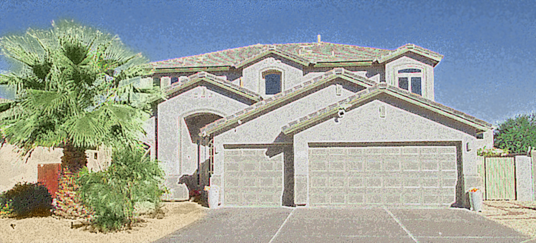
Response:
[[[480,175],[484,179],[484,200],[517,200],[516,158],[479,157],[483,160]]]

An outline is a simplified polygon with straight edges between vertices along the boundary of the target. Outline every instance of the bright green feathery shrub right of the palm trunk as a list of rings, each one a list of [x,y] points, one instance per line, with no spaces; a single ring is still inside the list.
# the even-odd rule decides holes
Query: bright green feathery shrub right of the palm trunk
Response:
[[[149,201],[159,208],[166,191],[158,161],[144,157],[143,150],[114,152],[107,170],[83,168],[77,179],[80,198],[94,211],[93,223],[103,232],[130,227],[136,202]]]

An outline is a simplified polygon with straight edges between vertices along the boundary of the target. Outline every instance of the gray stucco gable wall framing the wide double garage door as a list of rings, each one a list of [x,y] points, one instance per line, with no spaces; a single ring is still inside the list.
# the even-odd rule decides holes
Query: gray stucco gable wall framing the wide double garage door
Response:
[[[385,107],[385,117],[379,117],[379,107]],[[445,118],[446,119],[446,118]],[[448,119],[445,122],[450,122]],[[294,173],[296,177],[308,174],[308,142],[391,142],[391,141],[461,141],[465,188],[481,186],[477,174],[476,149],[467,151],[466,143],[474,144],[473,135],[439,124],[404,109],[379,100],[371,101],[346,112],[338,123],[326,120],[294,135]],[[298,181],[297,179],[296,181]],[[480,181],[480,182],[479,182]],[[297,184],[298,185],[298,184]],[[296,188],[297,195],[304,191]],[[296,202],[305,203],[305,202]]]

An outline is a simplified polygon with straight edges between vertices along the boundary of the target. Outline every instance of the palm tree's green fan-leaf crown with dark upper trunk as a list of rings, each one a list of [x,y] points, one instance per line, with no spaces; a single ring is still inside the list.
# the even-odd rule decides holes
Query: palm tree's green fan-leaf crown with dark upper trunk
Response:
[[[4,142],[23,149],[26,160],[38,146],[62,147],[62,166],[72,172],[87,164],[88,148],[140,148],[147,98],[162,97],[152,85],[135,87],[151,72],[147,59],[117,36],[72,20],[52,26],[0,38],[14,67],[0,84],[16,90],[14,101],[0,105]]]

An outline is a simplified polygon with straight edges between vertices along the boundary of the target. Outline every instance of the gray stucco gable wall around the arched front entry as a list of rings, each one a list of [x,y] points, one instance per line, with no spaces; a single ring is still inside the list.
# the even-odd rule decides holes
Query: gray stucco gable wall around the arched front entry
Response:
[[[172,191],[170,200],[184,198],[184,188],[174,189],[177,179],[197,169],[197,145],[191,142],[184,117],[199,112],[225,117],[248,106],[210,89],[201,97],[203,88],[190,89],[158,105],[158,160],[164,162],[166,186]]]

